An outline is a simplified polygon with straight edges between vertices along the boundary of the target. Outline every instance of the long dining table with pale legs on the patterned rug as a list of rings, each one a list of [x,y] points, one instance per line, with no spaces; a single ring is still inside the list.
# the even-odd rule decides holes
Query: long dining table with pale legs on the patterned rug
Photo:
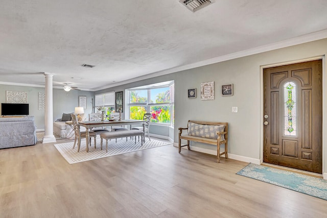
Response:
[[[143,119],[124,119],[124,120],[105,120],[105,121],[87,121],[82,120],[79,121],[78,124],[81,127],[85,127],[85,139],[86,139],[86,152],[88,152],[88,143],[89,143],[89,131],[91,128],[94,127],[108,127],[108,126],[123,126],[123,125],[129,125],[130,129],[132,129],[132,125],[142,125],[143,126],[143,138],[145,142],[145,125]]]

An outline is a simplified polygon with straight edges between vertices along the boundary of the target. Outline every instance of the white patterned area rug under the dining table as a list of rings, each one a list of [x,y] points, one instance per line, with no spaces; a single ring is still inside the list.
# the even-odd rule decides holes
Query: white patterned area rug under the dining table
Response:
[[[72,163],[79,163],[88,160],[99,159],[103,157],[110,157],[113,155],[125,154],[129,152],[141,151],[145,149],[156,148],[160,146],[167,146],[168,144],[172,144],[171,142],[164,142],[151,139],[146,139],[146,142],[143,143],[141,146],[141,141],[136,142],[132,139],[126,138],[117,139],[117,143],[115,140],[108,141],[108,153],[106,153],[106,143],[104,141],[102,150],[100,149],[100,138],[97,138],[97,148],[94,148],[94,140],[91,142],[91,146],[89,147],[88,153],[85,151],[86,142],[85,139],[82,139],[80,152],[77,152],[77,142],[76,146],[73,149],[74,141],[61,143],[61,144],[54,144],[56,149],[60,152],[60,154],[66,159],[66,161],[70,164]]]

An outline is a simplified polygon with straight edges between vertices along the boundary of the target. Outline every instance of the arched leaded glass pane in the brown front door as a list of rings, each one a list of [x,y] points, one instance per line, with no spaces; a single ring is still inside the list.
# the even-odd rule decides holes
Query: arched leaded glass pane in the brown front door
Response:
[[[296,136],[296,84],[284,85],[284,135]]]

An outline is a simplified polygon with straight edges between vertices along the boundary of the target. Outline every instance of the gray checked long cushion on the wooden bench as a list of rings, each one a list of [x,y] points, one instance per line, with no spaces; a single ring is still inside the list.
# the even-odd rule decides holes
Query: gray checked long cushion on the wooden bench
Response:
[[[217,139],[217,132],[224,131],[225,126],[215,126],[215,125],[201,125],[195,123],[189,123],[188,125],[188,135],[202,137],[202,138],[212,138]],[[224,135],[221,135],[220,140],[225,140]]]

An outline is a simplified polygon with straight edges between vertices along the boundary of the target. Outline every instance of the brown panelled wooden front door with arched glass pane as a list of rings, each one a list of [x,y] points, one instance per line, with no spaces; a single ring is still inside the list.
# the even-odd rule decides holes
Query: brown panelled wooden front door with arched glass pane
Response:
[[[264,69],[264,162],[322,173],[322,61]]]

